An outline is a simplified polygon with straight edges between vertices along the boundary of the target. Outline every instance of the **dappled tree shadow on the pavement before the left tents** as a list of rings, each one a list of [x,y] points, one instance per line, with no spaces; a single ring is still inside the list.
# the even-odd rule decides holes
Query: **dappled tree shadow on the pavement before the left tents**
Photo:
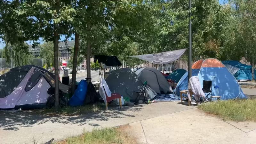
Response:
[[[101,110],[83,115],[63,116],[55,115],[49,116],[47,114],[37,114],[30,111],[20,112],[0,112],[0,127],[4,130],[18,131],[22,127],[33,127],[35,124],[44,123],[60,123],[60,124],[89,124],[91,126],[100,126],[99,124],[91,123],[90,121],[108,121],[110,118],[125,118],[135,117],[134,115],[127,114],[125,111],[140,111],[143,105],[134,107],[124,106],[121,110],[116,107],[109,107],[108,111]]]

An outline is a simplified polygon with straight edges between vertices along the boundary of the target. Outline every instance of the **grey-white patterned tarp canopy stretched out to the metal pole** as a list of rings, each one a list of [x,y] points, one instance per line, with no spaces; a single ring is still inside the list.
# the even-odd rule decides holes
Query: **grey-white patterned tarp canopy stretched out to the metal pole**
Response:
[[[175,61],[180,58],[180,56],[186,51],[187,49],[180,49],[175,51],[169,52],[159,52],[159,53],[151,53],[151,54],[143,54],[143,55],[133,55],[130,57],[138,58],[141,60],[146,60],[152,62],[154,64],[162,65],[167,64],[172,61]]]

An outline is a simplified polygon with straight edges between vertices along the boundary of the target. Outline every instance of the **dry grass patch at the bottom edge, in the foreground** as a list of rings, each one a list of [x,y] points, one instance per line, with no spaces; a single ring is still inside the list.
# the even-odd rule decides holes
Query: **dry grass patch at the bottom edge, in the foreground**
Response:
[[[85,132],[81,136],[70,137],[57,144],[123,144],[136,143],[135,139],[124,133],[123,128],[93,129],[92,132]]]

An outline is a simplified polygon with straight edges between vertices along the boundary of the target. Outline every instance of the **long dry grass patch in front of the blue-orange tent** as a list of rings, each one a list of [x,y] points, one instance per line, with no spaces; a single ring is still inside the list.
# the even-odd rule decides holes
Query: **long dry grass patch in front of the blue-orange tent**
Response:
[[[217,102],[203,103],[200,109],[224,120],[256,121],[256,100],[220,100]]]

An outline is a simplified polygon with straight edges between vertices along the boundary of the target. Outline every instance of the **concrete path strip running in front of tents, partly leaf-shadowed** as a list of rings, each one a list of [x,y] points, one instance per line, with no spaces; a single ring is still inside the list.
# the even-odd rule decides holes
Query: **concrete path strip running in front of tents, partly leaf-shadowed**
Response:
[[[177,111],[194,108],[174,102],[153,103],[134,107],[116,107],[108,111],[95,112],[78,116],[45,116],[31,112],[0,112],[0,140],[4,144],[43,143],[54,138],[60,140],[79,135],[84,130],[93,128],[114,127],[129,124],[148,118],[162,116]]]

